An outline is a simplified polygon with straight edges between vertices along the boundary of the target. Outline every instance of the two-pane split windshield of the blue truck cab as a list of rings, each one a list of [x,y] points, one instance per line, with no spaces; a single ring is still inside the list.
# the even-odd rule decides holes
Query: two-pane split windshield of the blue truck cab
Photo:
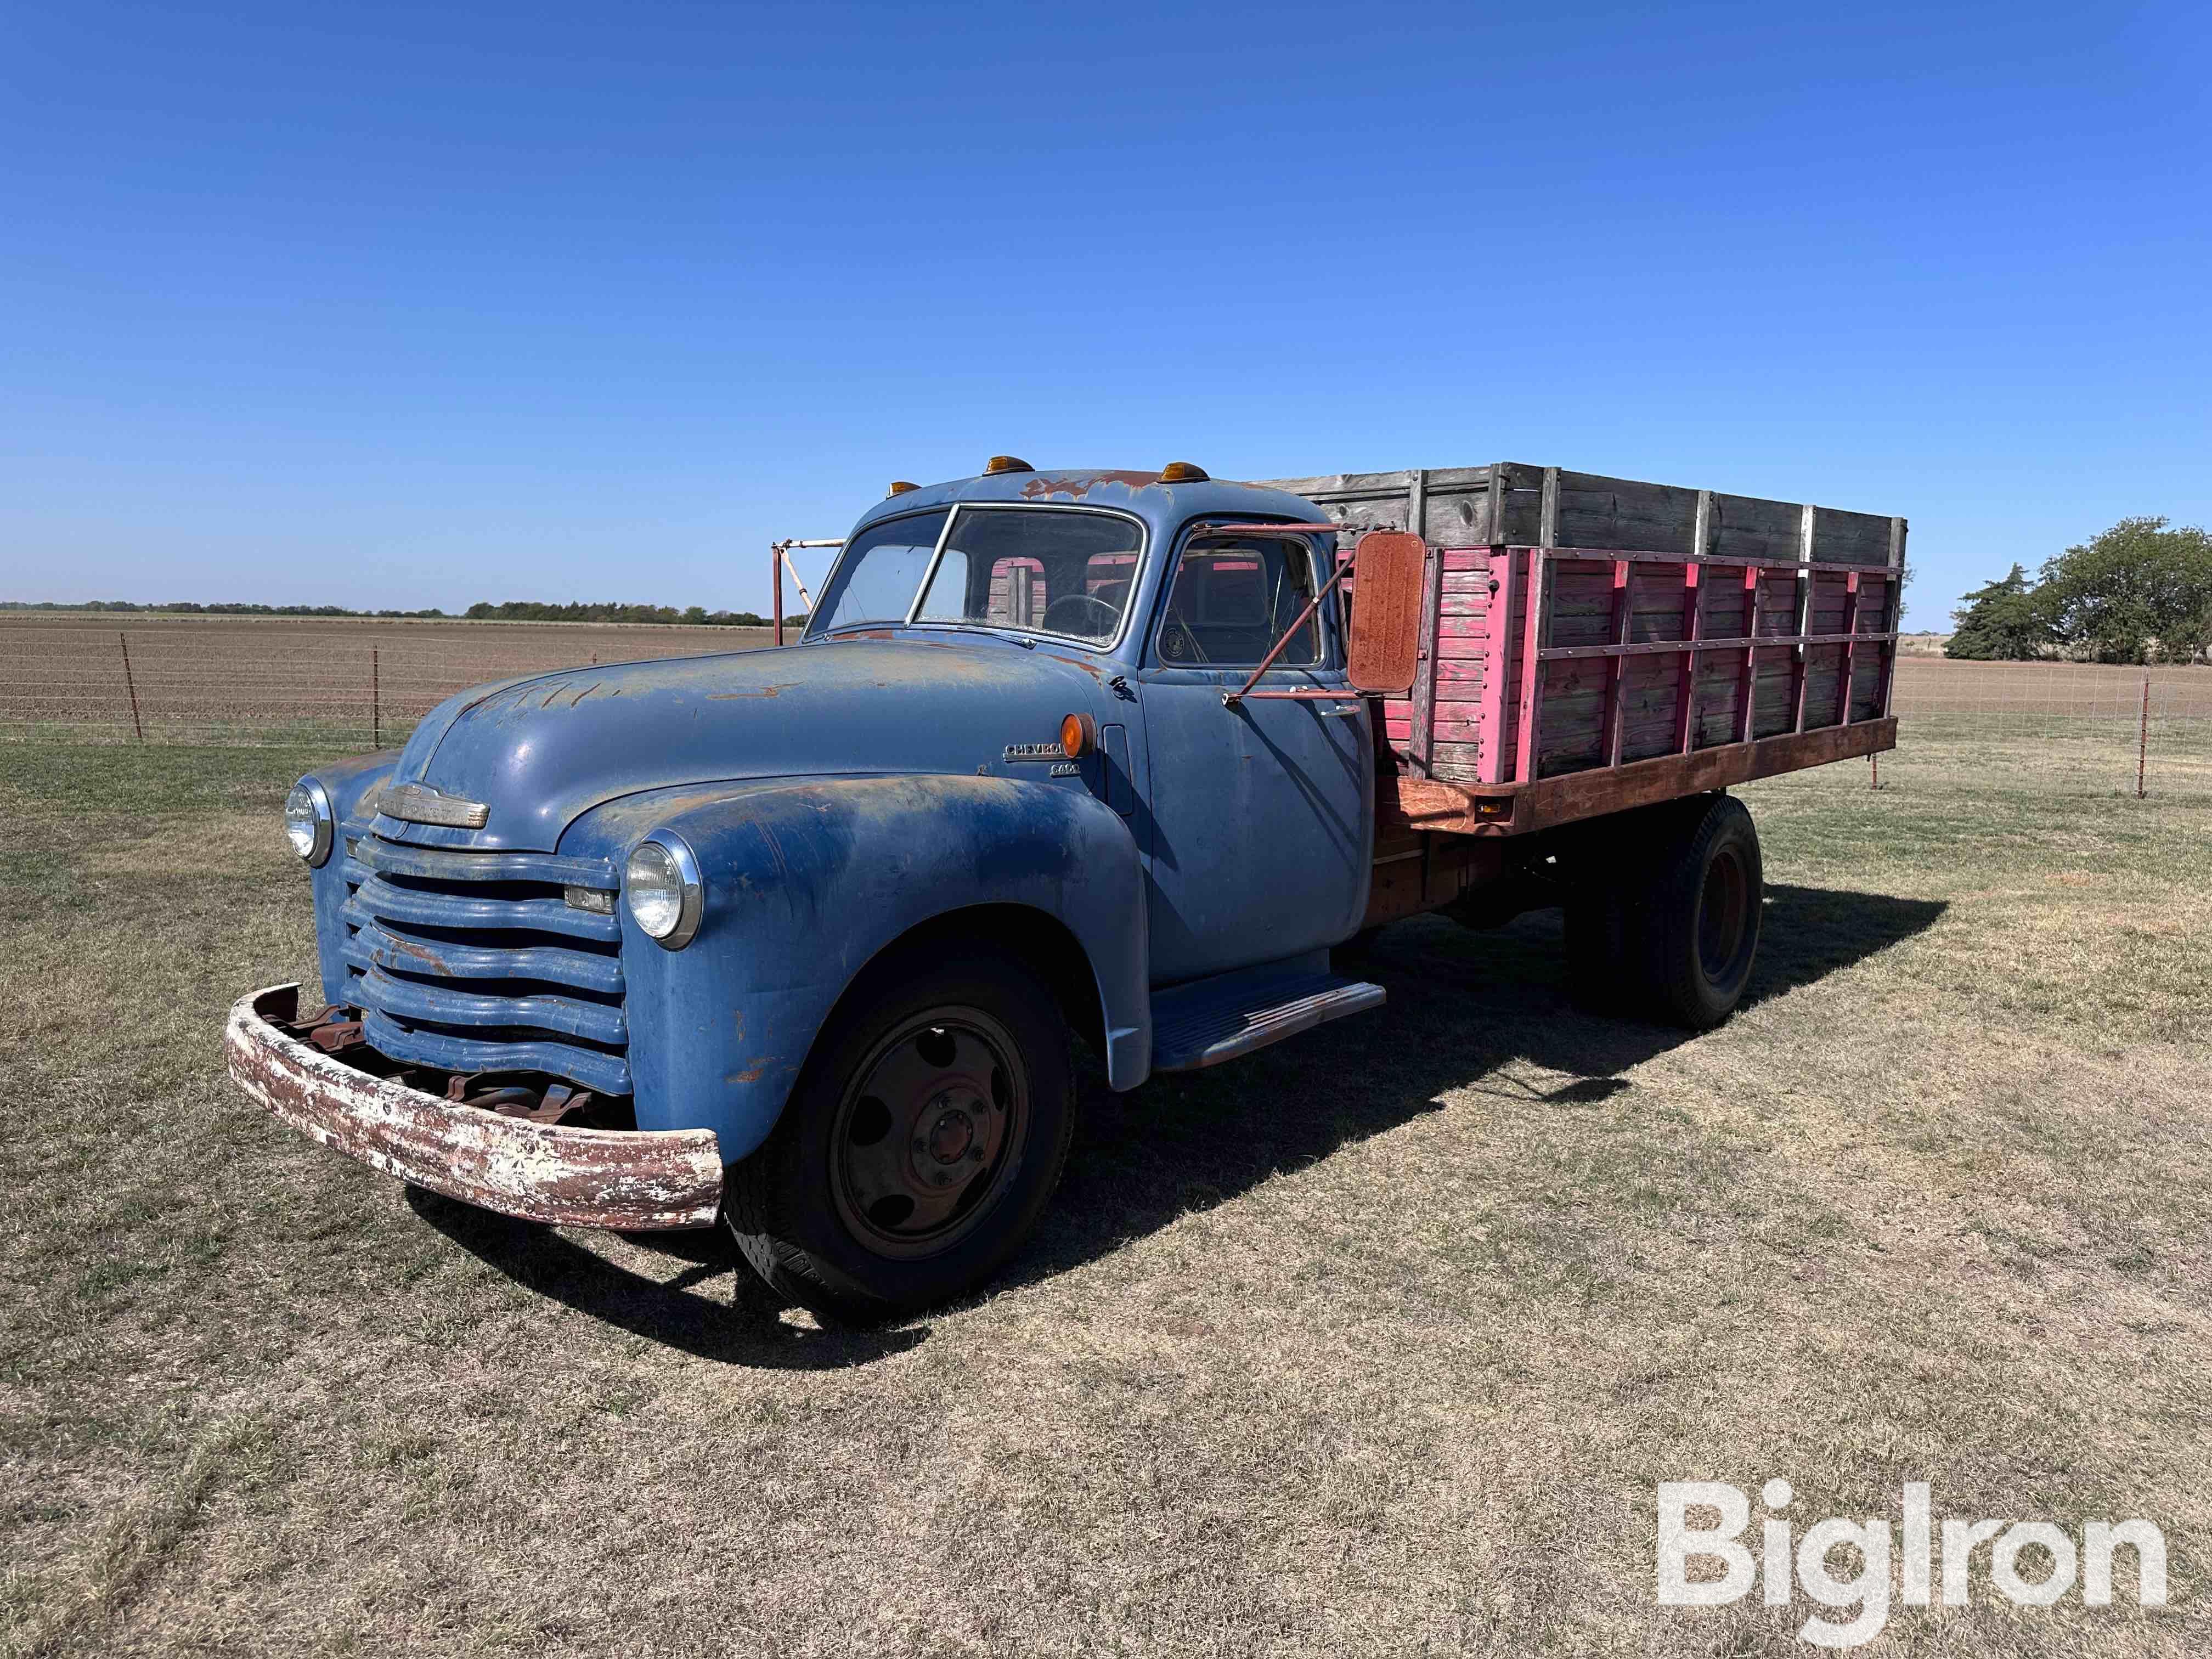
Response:
[[[973,624],[1106,641],[1121,630],[1144,526],[1119,513],[962,507],[872,524],[838,560],[807,633],[858,622]],[[942,535],[945,553],[929,575]],[[916,606],[922,580],[929,591]]]

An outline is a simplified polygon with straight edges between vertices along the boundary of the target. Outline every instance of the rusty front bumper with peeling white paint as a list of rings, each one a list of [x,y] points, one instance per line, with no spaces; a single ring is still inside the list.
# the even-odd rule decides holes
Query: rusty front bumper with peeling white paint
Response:
[[[721,1206],[710,1128],[560,1128],[458,1106],[372,1077],[281,1031],[296,984],[239,998],[223,1048],[230,1075],[292,1128],[467,1203],[573,1228],[706,1228]]]

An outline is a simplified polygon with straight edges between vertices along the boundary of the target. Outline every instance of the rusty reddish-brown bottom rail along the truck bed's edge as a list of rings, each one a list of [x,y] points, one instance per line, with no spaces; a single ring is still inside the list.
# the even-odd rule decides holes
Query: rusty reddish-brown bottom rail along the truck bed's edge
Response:
[[[1725,790],[1807,765],[1880,754],[1898,745],[1893,714],[1854,726],[1783,732],[1750,743],[1723,743],[1690,754],[1661,754],[1628,765],[1566,772],[1535,783],[1442,783],[1436,779],[1378,779],[1378,845],[1405,832],[1517,836],[1579,818],[1628,812],[1686,794]]]

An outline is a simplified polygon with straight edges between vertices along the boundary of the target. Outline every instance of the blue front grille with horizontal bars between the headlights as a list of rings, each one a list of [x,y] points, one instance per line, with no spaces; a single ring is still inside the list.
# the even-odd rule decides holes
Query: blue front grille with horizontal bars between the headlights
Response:
[[[347,830],[345,991],[369,1046],[442,1071],[540,1071],[630,1093],[622,925],[604,858],[405,847]]]

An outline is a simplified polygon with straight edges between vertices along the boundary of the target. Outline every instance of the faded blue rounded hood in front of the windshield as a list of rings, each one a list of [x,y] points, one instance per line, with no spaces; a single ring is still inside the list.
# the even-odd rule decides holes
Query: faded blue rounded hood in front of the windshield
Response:
[[[1009,743],[1051,743],[1071,712],[1110,719],[1102,672],[1048,644],[1024,650],[993,635],[909,635],[478,686],[425,717],[392,783],[480,801],[484,827],[380,818],[378,834],[553,852],[580,814],[641,790],[830,772],[1000,772]]]

